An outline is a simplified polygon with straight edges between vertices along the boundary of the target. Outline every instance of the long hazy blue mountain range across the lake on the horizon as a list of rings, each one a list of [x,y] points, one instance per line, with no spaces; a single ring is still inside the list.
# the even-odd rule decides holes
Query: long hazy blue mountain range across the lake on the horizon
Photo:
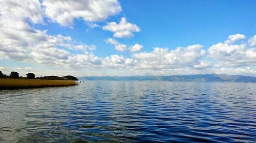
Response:
[[[225,75],[225,74],[196,74],[168,76],[87,76],[79,80],[159,80],[159,81],[209,81],[209,82],[256,82],[254,76]]]

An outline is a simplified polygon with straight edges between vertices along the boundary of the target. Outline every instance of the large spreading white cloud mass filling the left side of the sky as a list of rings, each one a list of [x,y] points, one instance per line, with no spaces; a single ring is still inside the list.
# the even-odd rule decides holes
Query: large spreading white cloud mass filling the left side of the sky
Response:
[[[44,23],[43,16],[39,1],[0,1],[0,57],[70,67],[100,63],[100,58],[87,52],[96,49],[95,45],[78,43],[69,36],[51,36],[31,26]],[[67,49],[81,50],[83,54],[72,54]],[[74,59],[78,59],[75,66],[71,64]]]

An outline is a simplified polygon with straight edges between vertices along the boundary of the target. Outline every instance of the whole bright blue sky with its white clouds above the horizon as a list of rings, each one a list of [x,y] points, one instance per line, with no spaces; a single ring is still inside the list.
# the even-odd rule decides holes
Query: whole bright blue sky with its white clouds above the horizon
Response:
[[[0,70],[256,76],[256,1],[0,0]]]

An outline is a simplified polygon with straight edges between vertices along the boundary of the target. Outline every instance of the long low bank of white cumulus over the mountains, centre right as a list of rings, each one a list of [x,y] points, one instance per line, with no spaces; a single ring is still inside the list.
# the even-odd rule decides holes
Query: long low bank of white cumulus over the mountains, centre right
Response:
[[[164,72],[168,69],[204,70],[211,67],[211,63],[200,61],[204,55],[205,50],[202,49],[202,45],[198,44],[178,47],[171,51],[167,48],[156,47],[152,52],[132,54],[132,59],[116,54],[107,56],[102,59],[102,67],[130,69],[134,73],[145,72],[145,74],[152,71]]]

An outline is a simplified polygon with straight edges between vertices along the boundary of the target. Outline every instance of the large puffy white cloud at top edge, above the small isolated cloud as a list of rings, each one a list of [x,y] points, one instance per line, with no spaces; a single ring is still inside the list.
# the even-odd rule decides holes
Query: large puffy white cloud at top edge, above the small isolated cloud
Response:
[[[51,20],[63,26],[72,25],[74,18],[91,22],[103,21],[122,10],[117,0],[45,0],[42,6],[45,7],[45,13]]]

